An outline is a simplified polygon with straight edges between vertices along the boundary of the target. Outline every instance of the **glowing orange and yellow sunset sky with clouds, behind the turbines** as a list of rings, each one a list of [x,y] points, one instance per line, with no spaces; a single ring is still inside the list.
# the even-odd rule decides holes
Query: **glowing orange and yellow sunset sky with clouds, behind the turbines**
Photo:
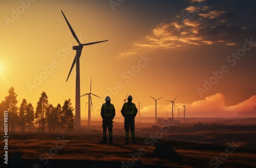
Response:
[[[14,87],[18,106],[75,106],[77,45],[62,10],[84,46],[81,95],[90,92],[93,118],[110,96],[116,114],[127,91],[141,117],[172,113],[174,100],[189,117],[256,117],[256,2],[229,0],[0,1],[0,100]],[[81,117],[88,96],[81,97]],[[88,106],[87,106],[88,108]],[[183,112],[183,109],[182,109]],[[178,117],[177,111],[174,117]],[[180,114],[180,117],[183,115]]]

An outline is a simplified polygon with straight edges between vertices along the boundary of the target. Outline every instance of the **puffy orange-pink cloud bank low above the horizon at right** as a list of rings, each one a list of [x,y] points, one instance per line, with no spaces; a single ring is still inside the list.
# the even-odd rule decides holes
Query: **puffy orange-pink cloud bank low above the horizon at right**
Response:
[[[215,95],[208,96],[205,99],[194,101],[191,104],[186,103],[187,116],[196,118],[238,118],[239,116],[245,117],[245,115],[247,118],[256,117],[256,110],[253,110],[256,106],[256,95],[233,106],[226,106],[225,101],[225,96],[221,93],[217,93]],[[177,102],[176,105],[181,108],[179,116],[183,117],[182,106],[184,104]],[[167,110],[169,113],[172,113],[172,103],[166,106],[162,106],[160,104],[157,105],[158,116],[166,116]],[[141,114],[142,116],[143,114],[152,114],[151,117],[154,117],[154,111],[154,105],[145,106],[141,109]],[[174,117],[178,117],[177,111],[174,111]]]

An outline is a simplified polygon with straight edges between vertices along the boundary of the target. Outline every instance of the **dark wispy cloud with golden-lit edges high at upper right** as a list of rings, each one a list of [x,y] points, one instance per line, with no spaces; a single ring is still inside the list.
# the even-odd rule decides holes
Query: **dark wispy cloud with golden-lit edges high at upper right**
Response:
[[[229,6],[224,8],[225,4],[218,6],[218,3],[211,5],[209,3],[214,2],[207,1],[206,6],[201,9],[196,5],[183,9],[172,22],[156,25],[152,35],[146,36],[144,42],[134,44],[151,48],[176,48],[216,43],[234,45],[241,43],[245,37],[256,35],[256,25],[253,26],[254,23],[244,21],[245,17],[253,16],[252,13],[244,13],[244,11],[242,13],[238,8]]]

